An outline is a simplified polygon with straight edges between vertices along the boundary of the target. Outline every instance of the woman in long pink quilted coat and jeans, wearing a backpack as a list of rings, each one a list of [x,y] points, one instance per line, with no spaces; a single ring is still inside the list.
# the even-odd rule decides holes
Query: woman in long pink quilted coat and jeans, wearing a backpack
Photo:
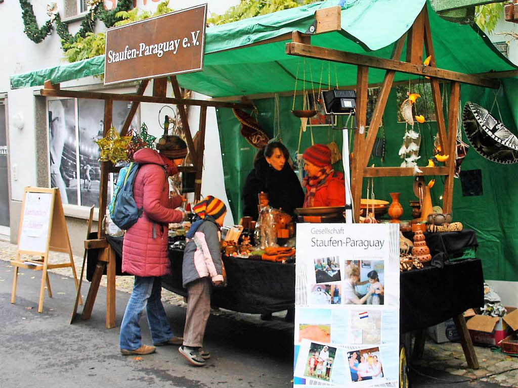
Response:
[[[185,142],[167,136],[168,150],[160,154],[150,148],[138,150],[133,159],[142,166],[135,177],[133,195],[142,209],[138,221],[126,231],[122,247],[122,271],[135,275],[135,285],[121,324],[122,354],[150,354],[154,346],[142,345],[139,319],[146,307],[151,338],[155,346],[181,345],[175,337],[161,302],[160,277],[170,273],[167,252],[168,224],[180,222],[185,214],[175,210],[182,203],[179,196],[169,198],[168,177],[178,173],[187,154]],[[175,149],[171,149],[175,148]]]

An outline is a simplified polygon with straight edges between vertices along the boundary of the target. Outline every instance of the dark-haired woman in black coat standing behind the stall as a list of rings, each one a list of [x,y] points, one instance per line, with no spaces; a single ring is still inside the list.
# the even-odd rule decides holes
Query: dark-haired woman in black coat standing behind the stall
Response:
[[[290,163],[287,162],[289,157],[287,148],[280,142],[271,142],[264,148],[263,153],[257,153],[254,168],[243,186],[243,216],[257,220],[257,194],[261,191],[268,193],[271,207],[282,209],[291,216],[295,208],[302,207],[304,191]]]

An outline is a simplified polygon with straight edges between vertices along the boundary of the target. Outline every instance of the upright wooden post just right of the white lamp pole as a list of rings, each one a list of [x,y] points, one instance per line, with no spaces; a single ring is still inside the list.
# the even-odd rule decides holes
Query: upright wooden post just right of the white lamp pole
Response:
[[[355,222],[359,222],[360,203],[363,188],[363,156],[365,147],[365,128],[367,127],[367,89],[369,86],[369,68],[358,66],[356,76],[356,128],[354,129],[354,146],[351,167],[351,191]],[[347,141],[347,139],[344,139]]]

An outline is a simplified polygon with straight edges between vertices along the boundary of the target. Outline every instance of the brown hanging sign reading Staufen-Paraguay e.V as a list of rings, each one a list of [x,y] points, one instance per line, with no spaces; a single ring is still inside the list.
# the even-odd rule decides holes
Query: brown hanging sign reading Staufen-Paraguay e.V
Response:
[[[109,28],[104,84],[203,70],[207,4]]]

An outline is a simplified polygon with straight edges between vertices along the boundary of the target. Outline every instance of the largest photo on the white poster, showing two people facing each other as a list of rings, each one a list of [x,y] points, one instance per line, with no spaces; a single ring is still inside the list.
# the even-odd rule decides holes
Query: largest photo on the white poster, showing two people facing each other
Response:
[[[384,304],[384,261],[347,260],[343,281],[343,304]]]

